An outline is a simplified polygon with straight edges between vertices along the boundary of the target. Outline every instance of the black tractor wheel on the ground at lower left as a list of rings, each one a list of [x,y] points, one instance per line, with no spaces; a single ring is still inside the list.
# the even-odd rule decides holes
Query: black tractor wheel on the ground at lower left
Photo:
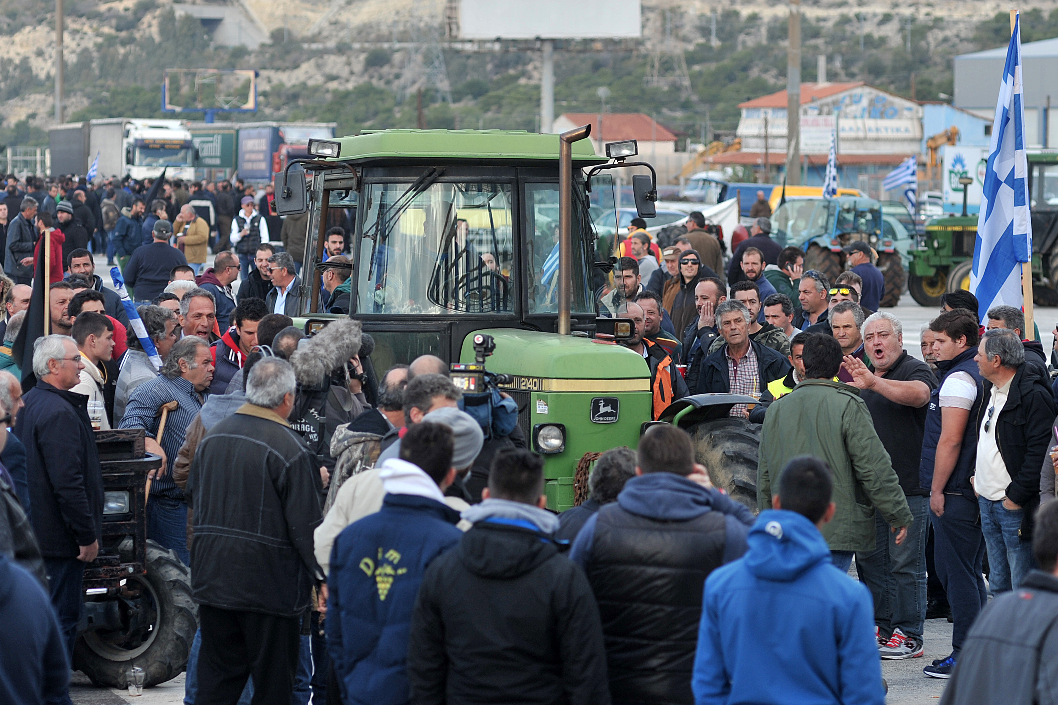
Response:
[[[177,554],[147,541],[147,574],[129,577],[111,599],[121,628],[78,636],[74,670],[111,688],[128,687],[125,672],[133,666],[144,670],[146,686],[182,673],[198,629],[198,608],[191,600],[190,572]]]

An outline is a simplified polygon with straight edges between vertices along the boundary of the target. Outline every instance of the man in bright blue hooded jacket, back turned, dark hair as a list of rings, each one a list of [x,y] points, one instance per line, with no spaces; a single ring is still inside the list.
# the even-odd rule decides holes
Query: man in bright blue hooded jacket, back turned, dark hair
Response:
[[[706,580],[695,705],[886,702],[871,593],[835,568],[820,533],[833,489],[826,463],[791,460],[749,551]]]

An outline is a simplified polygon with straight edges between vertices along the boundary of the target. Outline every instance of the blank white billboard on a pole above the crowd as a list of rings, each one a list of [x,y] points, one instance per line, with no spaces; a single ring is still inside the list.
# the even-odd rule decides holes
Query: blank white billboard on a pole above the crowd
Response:
[[[640,0],[459,0],[462,39],[640,36]]]

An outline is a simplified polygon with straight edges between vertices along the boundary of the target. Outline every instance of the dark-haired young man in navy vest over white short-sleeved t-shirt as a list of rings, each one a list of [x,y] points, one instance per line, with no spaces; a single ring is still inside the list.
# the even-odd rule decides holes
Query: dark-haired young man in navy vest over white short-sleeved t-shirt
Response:
[[[961,309],[937,316],[930,330],[943,376],[926,412],[919,478],[930,490],[934,563],[954,626],[951,655],[923,670],[932,678],[950,679],[966,633],[988,597],[982,579],[981,513],[970,481],[977,452],[977,426],[970,419],[979,418],[983,397],[981,372],[973,361],[980,331],[977,316]]]

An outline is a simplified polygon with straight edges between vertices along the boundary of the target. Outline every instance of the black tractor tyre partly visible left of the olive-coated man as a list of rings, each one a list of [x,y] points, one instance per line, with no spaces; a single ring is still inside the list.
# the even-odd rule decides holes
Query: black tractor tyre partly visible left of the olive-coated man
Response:
[[[694,459],[709,469],[713,484],[756,512],[756,457],[761,425],[731,416],[690,429]]]

